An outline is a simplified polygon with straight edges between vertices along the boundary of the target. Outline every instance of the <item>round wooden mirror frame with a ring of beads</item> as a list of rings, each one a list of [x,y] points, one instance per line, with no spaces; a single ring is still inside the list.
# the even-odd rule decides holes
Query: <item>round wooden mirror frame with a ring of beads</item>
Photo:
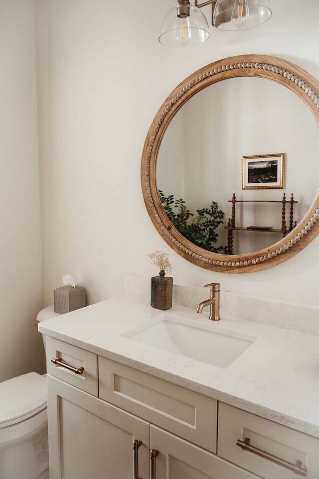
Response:
[[[197,92],[233,77],[253,76],[277,82],[306,103],[319,126],[319,82],[297,65],[266,55],[239,55],[218,60],[181,82],[160,107],[148,131],[141,162],[145,205],[162,239],[186,260],[205,269],[245,273],[270,268],[302,250],[319,233],[319,191],[304,218],[283,239],[247,254],[218,254],[185,239],[168,220],[162,208],[156,181],[156,164],[162,136],[177,111]]]

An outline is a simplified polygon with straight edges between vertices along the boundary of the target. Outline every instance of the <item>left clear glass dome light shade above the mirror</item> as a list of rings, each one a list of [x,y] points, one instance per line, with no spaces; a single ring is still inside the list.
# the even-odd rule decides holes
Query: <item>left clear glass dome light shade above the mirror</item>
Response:
[[[159,41],[163,45],[185,47],[202,43],[209,37],[209,27],[199,8],[188,0],[179,0],[170,8],[160,25]]]

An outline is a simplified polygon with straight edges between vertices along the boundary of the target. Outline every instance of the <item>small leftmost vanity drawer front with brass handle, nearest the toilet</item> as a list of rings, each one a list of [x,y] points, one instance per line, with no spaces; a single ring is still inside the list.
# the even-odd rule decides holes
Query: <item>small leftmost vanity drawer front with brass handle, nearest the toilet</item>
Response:
[[[57,377],[72,386],[76,386],[94,396],[98,395],[98,357],[96,354],[85,351],[62,341],[50,338],[46,343],[46,370],[51,376]],[[54,364],[51,359],[61,359],[64,365]],[[80,370],[81,374],[75,372]],[[81,370],[83,368],[83,370]]]

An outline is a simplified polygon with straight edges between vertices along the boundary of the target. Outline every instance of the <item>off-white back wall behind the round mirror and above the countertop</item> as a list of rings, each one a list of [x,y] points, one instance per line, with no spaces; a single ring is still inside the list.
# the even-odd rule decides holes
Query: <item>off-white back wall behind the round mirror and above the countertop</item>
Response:
[[[242,32],[211,27],[202,45],[167,48],[161,18],[173,0],[35,0],[44,304],[64,274],[90,303],[122,291],[123,276],[157,271],[147,254],[170,253],[179,284],[319,306],[319,238],[275,268],[211,273],[160,238],[144,206],[140,161],[145,137],[173,88],[198,68],[231,55],[292,61],[319,78],[317,0],[272,0],[264,25]],[[207,18],[210,8],[205,7]],[[307,158],[311,164],[316,158]],[[307,185],[305,185],[307,188]]]

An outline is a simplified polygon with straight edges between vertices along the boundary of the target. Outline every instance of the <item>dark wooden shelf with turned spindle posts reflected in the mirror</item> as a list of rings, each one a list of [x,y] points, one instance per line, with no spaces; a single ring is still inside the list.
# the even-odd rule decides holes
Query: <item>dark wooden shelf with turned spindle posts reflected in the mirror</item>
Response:
[[[231,218],[228,220],[228,226],[225,226],[226,230],[228,230],[228,244],[227,244],[227,253],[233,254],[233,231],[253,231],[253,232],[269,232],[269,233],[282,233],[283,237],[287,235],[289,231],[292,231],[295,226],[297,225],[297,221],[294,223],[294,203],[298,203],[298,201],[294,201],[293,194],[289,201],[286,200],[286,195],[284,193],[283,199],[281,201],[272,201],[272,200],[236,200],[235,193],[233,194],[232,200],[228,200],[228,203],[232,203],[231,209]],[[241,228],[235,226],[236,222],[236,203],[281,203],[282,204],[282,222],[281,222],[281,230],[276,230],[273,228],[258,228],[258,227],[248,227],[248,228]],[[290,216],[289,216],[289,228],[287,229],[286,225],[286,203],[290,204]]]

